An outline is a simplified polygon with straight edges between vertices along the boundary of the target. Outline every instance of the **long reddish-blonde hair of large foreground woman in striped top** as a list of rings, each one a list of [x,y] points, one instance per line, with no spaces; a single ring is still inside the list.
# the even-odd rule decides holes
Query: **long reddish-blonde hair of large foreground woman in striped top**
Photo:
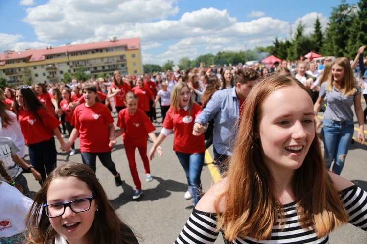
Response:
[[[308,89],[295,78],[273,74],[259,81],[246,99],[242,113],[246,119],[243,118],[239,125],[226,187],[214,200],[217,228],[224,230],[224,238],[229,241],[237,236],[269,239],[279,214],[279,227],[285,222],[283,205],[275,198],[274,177],[264,162],[261,142],[255,139],[255,132],[263,117],[265,100],[275,90],[288,86],[303,89],[310,95]],[[302,228],[313,229],[321,237],[347,221],[338,191],[325,170],[317,136],[303,164],[295,170],[292,185]],[[223,205],[221,211],[219,204]]]

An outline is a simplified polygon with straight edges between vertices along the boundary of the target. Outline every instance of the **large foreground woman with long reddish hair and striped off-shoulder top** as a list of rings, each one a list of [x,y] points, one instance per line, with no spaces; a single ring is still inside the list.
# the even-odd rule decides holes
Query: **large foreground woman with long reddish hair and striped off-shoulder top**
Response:
[[[279,110],[281,108],[281,110]],[[195,206],[175,243],[328,243],[352,222],[367,228],[367,193],[325,170],[308,89],[274,74],[246,99],[227,177]]]

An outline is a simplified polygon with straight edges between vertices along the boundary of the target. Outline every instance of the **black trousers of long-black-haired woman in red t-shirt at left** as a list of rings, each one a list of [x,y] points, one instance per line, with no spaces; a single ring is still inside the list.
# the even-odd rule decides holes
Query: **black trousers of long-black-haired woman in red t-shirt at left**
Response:
[[[32,166],[41,174],[42,184],[45,181],[47,175],[49,175],[51,171],[56,168],[57,151],[55,139],[52,137],[46,141],[29,144],[28,150]]]

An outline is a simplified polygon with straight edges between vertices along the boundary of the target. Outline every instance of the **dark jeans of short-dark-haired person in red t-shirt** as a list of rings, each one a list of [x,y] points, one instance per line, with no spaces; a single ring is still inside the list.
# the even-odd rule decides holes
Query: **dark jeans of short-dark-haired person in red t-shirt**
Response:
[[[95,162],[97,160],[97,156],[101,161],[102,165],[105,166],[114,176],[117,175],[115,163],[111,158],[111,151],[105,153],[90,153],[90,152],[81,152],[82,161],[85,165],[90,167],[95,172]]]

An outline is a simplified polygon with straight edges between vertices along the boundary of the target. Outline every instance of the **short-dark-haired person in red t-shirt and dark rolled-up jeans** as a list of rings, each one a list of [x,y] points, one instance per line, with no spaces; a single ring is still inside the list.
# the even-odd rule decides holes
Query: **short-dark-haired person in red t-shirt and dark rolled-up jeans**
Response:
[[[111,159],[112,148],[109,146],[115,135],[114,119],[108,108],[99,102],[97,89],[92,84],[83,88],[83,98],[85,103],[75,108],[71,118],[74,129],[70,134],[68,146],[70,148],[79,135],[83,163],[95,172],[98,156],[103,166],[115,176],[116,186],[120,186],[121,177]]]

